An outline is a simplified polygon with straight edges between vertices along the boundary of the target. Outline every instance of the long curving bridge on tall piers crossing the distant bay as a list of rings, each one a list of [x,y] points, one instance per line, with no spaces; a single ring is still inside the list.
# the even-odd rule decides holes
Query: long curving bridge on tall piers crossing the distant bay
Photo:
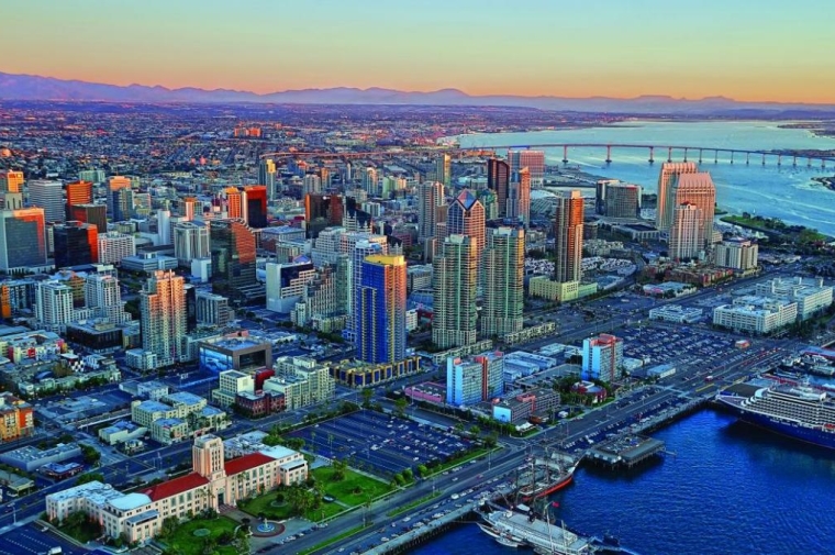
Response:
[[[482,146],[416,146],[416,147],[393,147],[388,149],[368,151],[368,152],[275,152],[261,154],[260,158],[288,158],[288,157],[320,157],[320,158],[364,158],[369,156],[415,154],[415,153],[452,153],[452,152],[480,152],[496,153],[497,151],[530,151],[538,148],[561,148],[563,164],[570,162],[569,155],[572,148],[600,148],[605,149],[605,163],[611,164],[615,151],[634,151],[639,149],[647,153],[647,162],[655,164],[656,152],[661,155],[666,151],[665,162],[698,162],[703,164],[705,160],[713,160],[719,164],[720,154],[727,158],[731,164],[741,163],[745,165],[756,164],[767,165],[768,160],[778,166],[790,165],[798,167],[805,160],[806,167],[812,167],[820,163],[822,168],[826,168],[827,163],[835,166],[835,156],[823,156],[821,154],[792,151],[792,149],[771,149],[771,151],[750,151],[745,148],[724,148],[714,146],[684,146],[684,145],[646,145],[630,143],[528,143],[528,144],[508,144],[508,145],[482,145]]]

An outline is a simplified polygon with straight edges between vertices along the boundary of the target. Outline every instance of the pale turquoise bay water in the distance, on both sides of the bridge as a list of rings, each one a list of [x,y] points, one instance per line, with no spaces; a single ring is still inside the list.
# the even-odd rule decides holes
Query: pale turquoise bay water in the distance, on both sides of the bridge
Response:
[[[627,126],[628,125],[628,126]],[[543,131],[536,133],[474,134],[459,137],[463,146],[534,145],[536,143],[622,143],[646,145],[687,145],[716,148],[745,148],[767,151],[779,148],[835,148],[835,140],[816,137],[804,130],[783,130],[770,122],[699,122],[658,123],[630,122],[627,125],[593,127],[583,130]],[[561,148],[545,149],[548,164],[559,164]],[[571,148],[569,160],[589,173],[622,179],[644,186],[648,192],[656,192],[660,162],[667,158],[667,151],[656,148],[656,164],[647,164],[648,152],[637,149],[613,151],[613,163],[606,167],[605,148]],[[680,160],[683,152],[675,151],[673,159]],[[697,152],[690,152],[688,159],[695,162]],[[811,169],[805,163],[791,167],[791,159],[778,168],[776,158],[770,158],[762,167],[760,158],[735,158],[728,163],[728,155],[720,154],[719,164],[713,164],[713,153],[704,153],[702,169],[710,171],[716,184],[716,202],[732,213],[752,212],[769,218],[780,218],[787,223],[815,227],[828,235],[835,235],[835,191],[814,184],[815,176],[832,176],[835,168],[825,170],[820,163]]]

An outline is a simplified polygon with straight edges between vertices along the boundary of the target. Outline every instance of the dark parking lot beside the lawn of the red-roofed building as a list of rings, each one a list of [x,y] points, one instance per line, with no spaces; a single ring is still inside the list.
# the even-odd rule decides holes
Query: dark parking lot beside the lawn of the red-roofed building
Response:
[[[431,460],[445,462],[469,446],[467,440],[405,419],[360,411],[290,433],[308,451],[381,476]]]

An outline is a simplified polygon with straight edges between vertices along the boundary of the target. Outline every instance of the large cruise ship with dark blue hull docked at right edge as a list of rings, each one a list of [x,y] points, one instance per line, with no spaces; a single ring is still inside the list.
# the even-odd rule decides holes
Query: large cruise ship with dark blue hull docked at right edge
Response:
[[[716,395],[739,420],[766,430],[835,449],[835,400],[804,385],[737,384]]]

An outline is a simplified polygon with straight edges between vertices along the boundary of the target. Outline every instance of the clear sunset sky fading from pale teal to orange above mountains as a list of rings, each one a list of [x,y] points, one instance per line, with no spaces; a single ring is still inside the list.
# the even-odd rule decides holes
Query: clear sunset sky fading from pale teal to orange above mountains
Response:
[[[835,102],[832,0],[0,0],[0,71]]]

